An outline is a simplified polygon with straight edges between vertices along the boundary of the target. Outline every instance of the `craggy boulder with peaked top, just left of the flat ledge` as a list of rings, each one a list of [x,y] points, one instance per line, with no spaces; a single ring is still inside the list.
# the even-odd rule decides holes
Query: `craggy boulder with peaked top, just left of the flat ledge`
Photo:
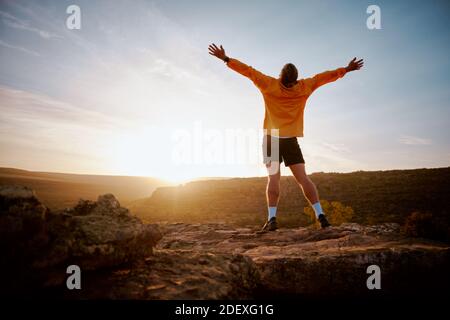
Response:
[[[38,261],[40,266],[71,261],[82,270],[146,257],[161,239],[156,225],[143,224],[112,194],[99,196],[96,202],[80,200],[74,208],[50,214],[48,233],[52,243],[45,259]]]

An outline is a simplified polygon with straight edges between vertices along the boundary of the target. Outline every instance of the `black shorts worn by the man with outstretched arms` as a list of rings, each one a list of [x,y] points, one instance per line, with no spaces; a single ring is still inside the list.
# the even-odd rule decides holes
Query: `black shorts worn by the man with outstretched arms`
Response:
[[[278,142],[278,157],[272,156],[271,138],[274,143]],[[280,163],[284,161],[284,165],[288,167],[297,163],[305,163],[296,137],[277,138],[265,135],[263,138],[263,157],[264,164],[269,164],[270,161],[279,161]]]

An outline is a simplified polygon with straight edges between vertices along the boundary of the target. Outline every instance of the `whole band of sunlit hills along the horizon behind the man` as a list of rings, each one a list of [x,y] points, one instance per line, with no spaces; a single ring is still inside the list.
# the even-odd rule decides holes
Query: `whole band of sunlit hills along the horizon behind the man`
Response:
[[[322,206],[334,225],[397,222],[414,237],[450,241],[450,168],[314,173]],[[229,223],[259,227],[267,219],[266,178],[193,181],[176,187],[143,177],[74,175],[0,168],[0,184],[33,188],[51,209],[113,193],[147,222]],[[158,187],[155,190],[155,187]],[[153,194],[144,198],[145,195]],[[316,223],[293,177],[282,177],[278,221]]]

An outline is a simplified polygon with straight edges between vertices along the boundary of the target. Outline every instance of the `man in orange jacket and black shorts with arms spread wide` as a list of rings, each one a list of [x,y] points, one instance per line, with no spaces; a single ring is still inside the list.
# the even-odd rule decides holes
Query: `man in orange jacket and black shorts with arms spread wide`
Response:
[[[266,189],[268,219],[261,231],[274,231],[278,228],[276,214],[280,194],[280,163],[283,161],[285,166],[291,169],[322,228],[330,226],[320,206],[316,186],[306,175],[305,160],[297,137],[303,137],[303,114],[309,96],[320,86],[342,78],[347,72],[361,69],[363,60],[356,61],[356,58],[353,58],[344,68],[326,71],[301,80],[297,80],[297,68],[292,63],[288,63],[276,79],[237,59],[229,58],[222,46],[217,47],[211,44],[208,49],[211,55],[223,60],[229,68],[252,80],[264,98],[263,149],[264,163],[268,168]]]

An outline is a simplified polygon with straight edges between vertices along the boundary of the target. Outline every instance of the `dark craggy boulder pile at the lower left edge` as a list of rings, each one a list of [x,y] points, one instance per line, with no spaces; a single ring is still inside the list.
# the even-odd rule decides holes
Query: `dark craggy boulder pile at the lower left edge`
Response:
[[[51,212],[33,190],[0,186],[0,294],[64,283],[71,264],[92,271],[148,257],[159,239],[156,225],[143,224],[112,194]]]

